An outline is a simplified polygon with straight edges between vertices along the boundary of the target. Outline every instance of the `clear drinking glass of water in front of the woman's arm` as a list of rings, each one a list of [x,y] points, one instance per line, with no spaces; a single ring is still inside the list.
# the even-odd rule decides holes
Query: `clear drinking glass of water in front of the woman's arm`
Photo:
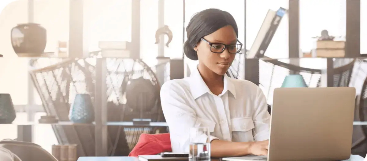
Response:
[[[210,161],[209,127],[190,128],[189,161]]]

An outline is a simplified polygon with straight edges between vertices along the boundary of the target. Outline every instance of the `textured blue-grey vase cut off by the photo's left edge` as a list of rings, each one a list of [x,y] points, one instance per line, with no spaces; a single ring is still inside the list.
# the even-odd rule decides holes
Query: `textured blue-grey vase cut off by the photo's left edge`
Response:
[[[11,124],[15,117],[15,109],[10,94],[0,93],[0,124]]]

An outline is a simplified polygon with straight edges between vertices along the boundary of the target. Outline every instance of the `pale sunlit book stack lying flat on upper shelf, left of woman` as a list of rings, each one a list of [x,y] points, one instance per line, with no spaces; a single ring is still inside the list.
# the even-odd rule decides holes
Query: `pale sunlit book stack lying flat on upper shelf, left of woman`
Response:
[[[130,58],[128,41],[99,41],[98,47],[101,49],[102,57]]]

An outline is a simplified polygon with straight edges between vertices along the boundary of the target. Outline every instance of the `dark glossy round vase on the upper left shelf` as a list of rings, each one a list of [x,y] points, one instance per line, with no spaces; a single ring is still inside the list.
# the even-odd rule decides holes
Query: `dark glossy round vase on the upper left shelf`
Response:
[[[46,41],[46,29],[37,23],[18,24],[11,30],[11,45],[18,56],[41,56]]]

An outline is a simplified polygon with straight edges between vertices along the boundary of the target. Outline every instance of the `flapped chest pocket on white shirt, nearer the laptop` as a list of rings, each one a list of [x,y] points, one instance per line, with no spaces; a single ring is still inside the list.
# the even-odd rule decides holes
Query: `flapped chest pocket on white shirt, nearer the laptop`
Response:
[[[252,129],[255,128],[251,117],[238,117],[231,119],[232,141],[253,142]]]

